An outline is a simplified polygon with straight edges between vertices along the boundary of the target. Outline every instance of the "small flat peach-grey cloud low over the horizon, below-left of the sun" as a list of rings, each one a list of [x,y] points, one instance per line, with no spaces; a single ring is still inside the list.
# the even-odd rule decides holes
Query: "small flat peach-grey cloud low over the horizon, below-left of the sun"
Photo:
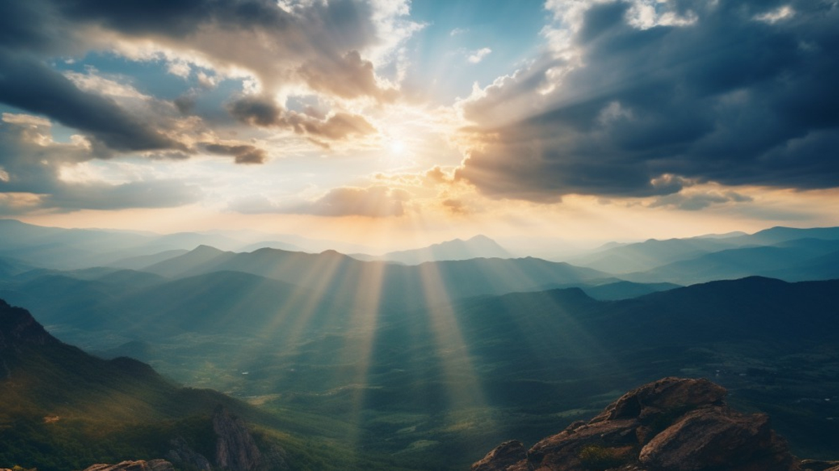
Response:
[[[404,203],[409,199],[406,191],[391,189],[387,186],[341,187],[331,189],[314,201],[276,203],[261,195],[248,197],[230,204],[230,210],[244,214],[279,213],[383,218],[404,215]]]

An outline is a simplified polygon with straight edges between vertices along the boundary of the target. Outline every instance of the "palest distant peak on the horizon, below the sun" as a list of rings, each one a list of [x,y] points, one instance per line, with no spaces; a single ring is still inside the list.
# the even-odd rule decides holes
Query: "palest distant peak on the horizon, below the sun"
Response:
[[[392,251],[382,256],[350,254],[362,261],[398,261],[406,265],[419,265],[425,261],[469,260],[471,258],[511,258],[510,252],[486,235],[475,235],[463,241],[440,242],[432,246],[407,251]]]

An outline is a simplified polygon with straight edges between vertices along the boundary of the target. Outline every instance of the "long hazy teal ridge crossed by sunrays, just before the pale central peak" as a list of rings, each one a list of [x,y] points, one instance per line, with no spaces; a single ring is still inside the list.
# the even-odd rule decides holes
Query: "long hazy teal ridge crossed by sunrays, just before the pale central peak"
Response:
[[[405,266],[358,261],[336,251],[320,254],[260,249],[247,253],[200,246],[146,267],[165,277],[216,271],[247,272],[352,299],[359,306],[420,308],[482,294],[533,290],[548,283],[583,282],[606,273],[535,258],[477,258]]]

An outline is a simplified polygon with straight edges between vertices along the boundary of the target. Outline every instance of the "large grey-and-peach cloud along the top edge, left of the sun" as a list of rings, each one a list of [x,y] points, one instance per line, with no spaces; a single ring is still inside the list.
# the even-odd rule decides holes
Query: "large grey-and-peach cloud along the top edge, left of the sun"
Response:
[[[400,30],[417,28],[402,24],[407,3],[399,1],[299,2],[288,8],[270,0],[29,3],[5,12],[8,23],[29,22],[16,28],[18,46],[65,53],[110,45],[138,59],[164,54],[177,75],[196,64],[247,70],[263,90],[304,84],[345,98],[391,93],[378,85],[361,51],[388,44],[390,36],[404,39]]]

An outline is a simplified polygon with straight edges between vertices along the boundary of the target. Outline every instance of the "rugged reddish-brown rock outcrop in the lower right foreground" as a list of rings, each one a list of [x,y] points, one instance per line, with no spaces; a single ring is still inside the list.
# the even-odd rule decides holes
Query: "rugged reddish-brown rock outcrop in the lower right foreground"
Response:
[[[769,417],[734,411],[725,396],[722,386],[708,380],[664,378],[526,452],[519,442],[503,443],[472,471],[807,469],[769,427]]]

